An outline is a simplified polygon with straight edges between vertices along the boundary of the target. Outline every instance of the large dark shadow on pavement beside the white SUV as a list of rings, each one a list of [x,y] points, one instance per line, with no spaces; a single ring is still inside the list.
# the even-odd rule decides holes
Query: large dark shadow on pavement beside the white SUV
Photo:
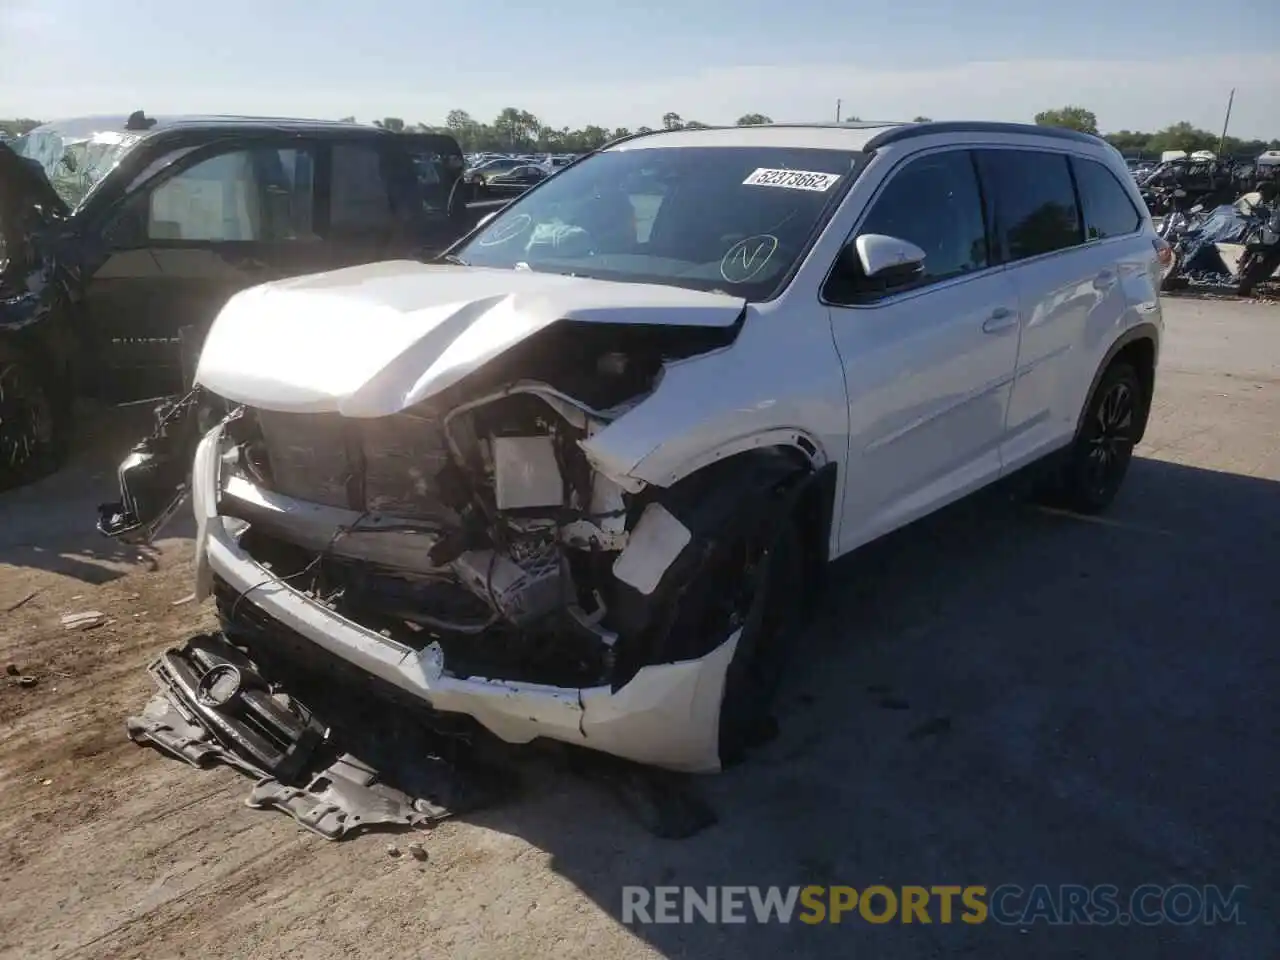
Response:
[[[1277,506],[1280,483],[1155,460],[1103,518],[979,494],[837,564],[778,736],[696,782],[716,826],[657,840],[554,772],[468,819],[550,854],[618,923],[623,884],[1253,891],[1243,927],[973,925],[959,905],[950,924],[936,905],[927,925],[627,924],[669,957],[1267,955]]]

